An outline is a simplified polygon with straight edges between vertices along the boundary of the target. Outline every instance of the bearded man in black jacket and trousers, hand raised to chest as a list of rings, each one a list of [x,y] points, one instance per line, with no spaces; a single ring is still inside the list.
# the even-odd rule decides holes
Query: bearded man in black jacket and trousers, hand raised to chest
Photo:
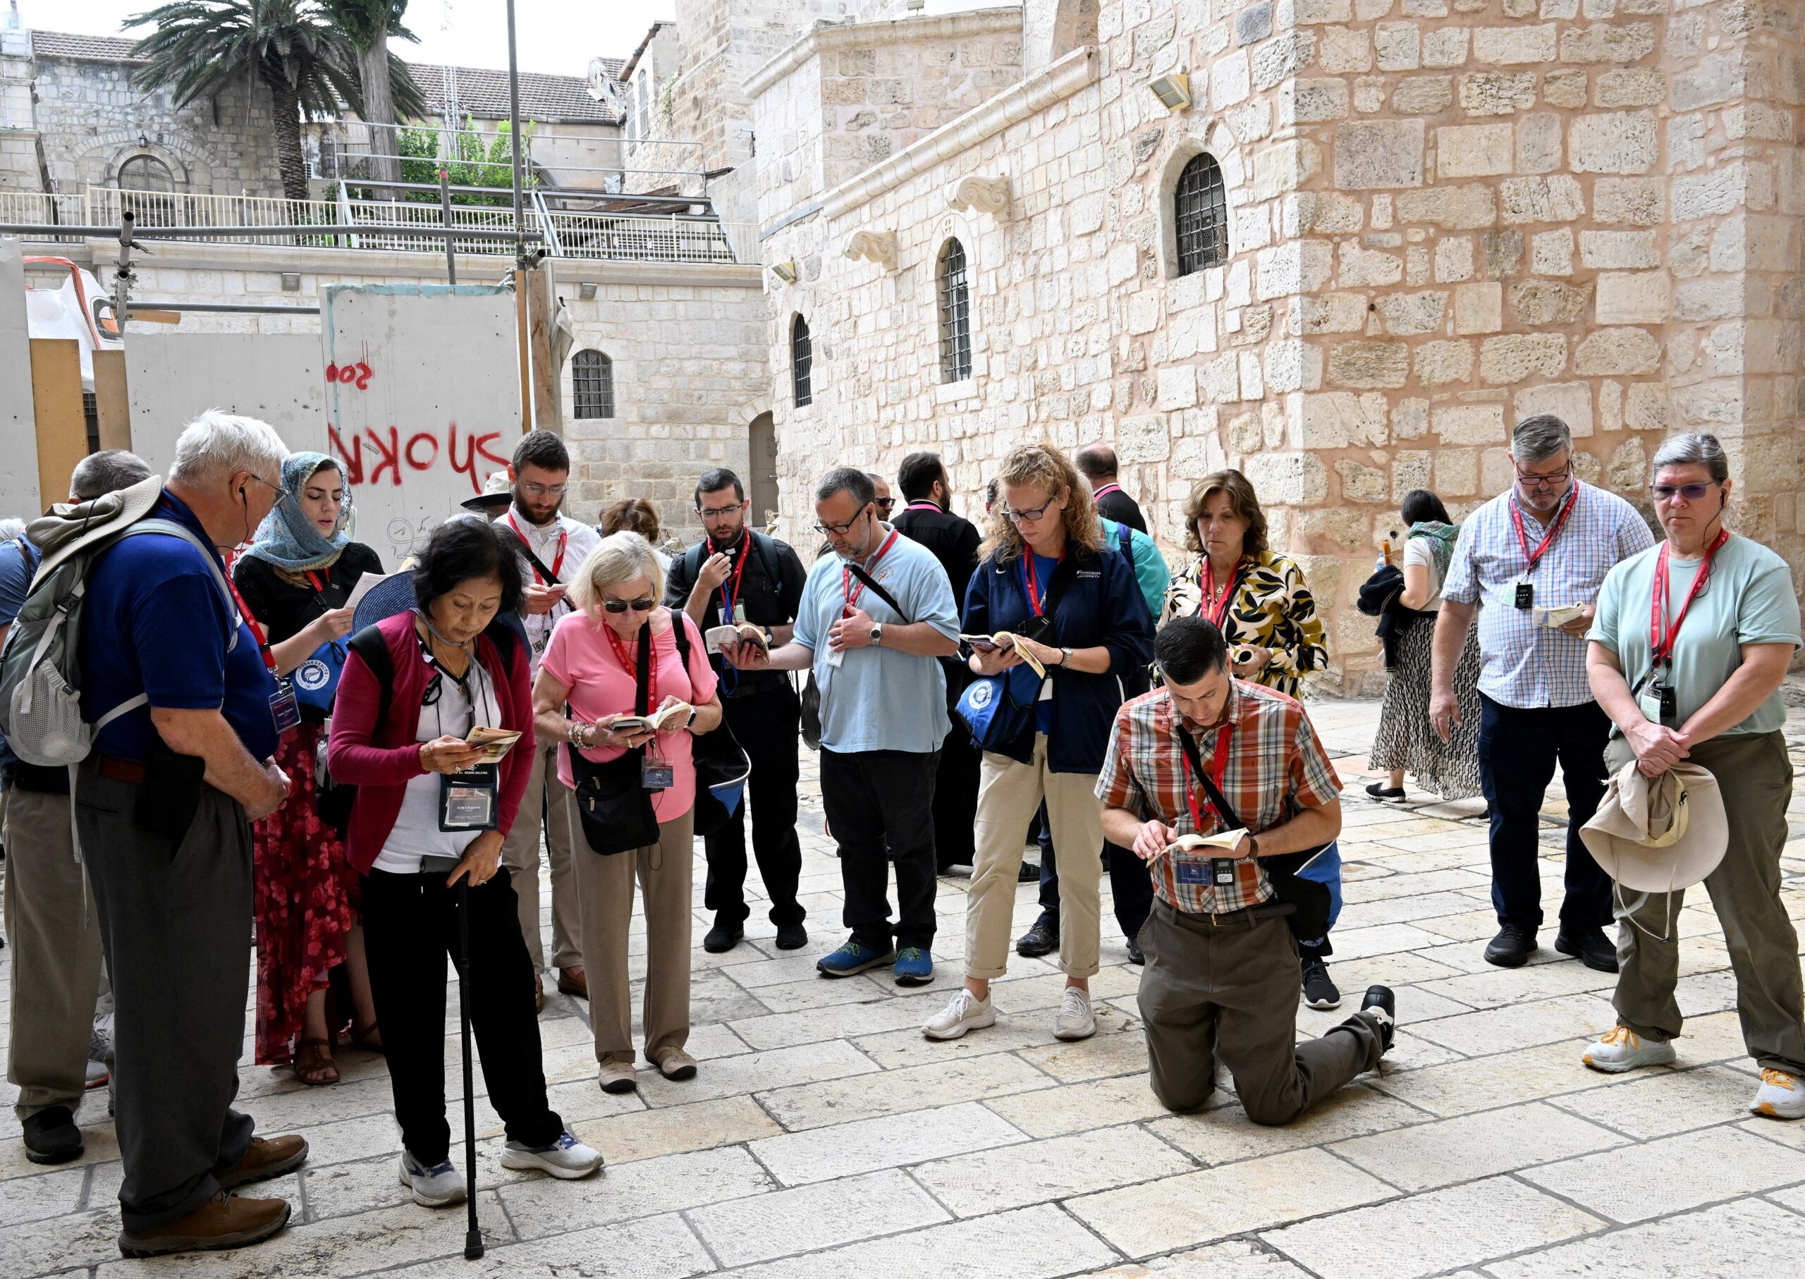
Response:
[[[751,624],[765,633],[771,648],[789,644],[805,577],[801,559],[789,543],[745,525],[745,487],[726,467],[708,471],[695,485],[695,514],[706,538],[671,561],[664,603],[680,608],[708,633],[715,626]],[[778,949],[796,951],[809,942],[796,902],[801,879],[801,842],[796,839],[796,741],[801,736],[801,702],[782,671],[735,671],[720,657],[709,658],[720,675],[727,727],[753,761],[747,799],[753,806],[753,857],[771,898],[771,922]],[[708,888],[704,904],[715,925],[702,949],[720,954],[745,936],[745,806],[704,839]]]

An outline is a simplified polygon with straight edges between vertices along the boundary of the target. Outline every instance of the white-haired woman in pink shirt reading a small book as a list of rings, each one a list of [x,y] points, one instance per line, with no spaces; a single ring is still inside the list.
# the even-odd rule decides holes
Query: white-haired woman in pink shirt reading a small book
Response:
[[[542,738],[565,741],[558,754],[558,778],[572,790],[581,781],[570,761],[572,750],[579,750],[590,765],[606,765],[643,749],[643,761],[626,785],[650,792],[657,817],[657,839],[643,848],[597,853],[585,832],[588,846],[579,848],[574,864],[599,1082],[605,1091],[630,1093],[635,1075],[626,931],[634,915],[635,877],[646,911],[646,1061],[657,1064],[666,1079],[695,1077],[695,1057],[684,1052],[690,1039],[690,879],[695,860],[695,761],[690,741],[720,723],[720,695],[695,622],[659,604],[664,572],[652,545],[637,532],[603,538],[570,581],[569,597],[578,612],[558,622],[545,646],[532,686],[534,723]],[[684,628],[688,662],[679,653],[675,626]],[[646,709],[690,707],[671,714],[655,732],[612,727],[637,707],[643,648],[650,649],[644,662]],[[572,796],[570,806],[574,835],[583,830],[583,797]]]

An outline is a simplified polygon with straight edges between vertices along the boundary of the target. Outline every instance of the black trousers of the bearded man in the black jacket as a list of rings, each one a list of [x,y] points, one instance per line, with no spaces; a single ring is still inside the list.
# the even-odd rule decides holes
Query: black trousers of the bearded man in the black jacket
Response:
[[[796,841],[801,702],[789,680],[780,680],[765,693],[722,698],[720,705],[727,727],[753,761],[745,801],[753,808],[753,857],[758,859],[758,877],[771,897],[771,922],[778,927],[801,924],[807,916],[796,902],[796,880],[801,879],[801,844]],[[702,902],[715,913],[717,924],[729,927],[744,924],[751,915],[745,906],[747,803],[733,810],[726,826],[702,841],[708,850]]]

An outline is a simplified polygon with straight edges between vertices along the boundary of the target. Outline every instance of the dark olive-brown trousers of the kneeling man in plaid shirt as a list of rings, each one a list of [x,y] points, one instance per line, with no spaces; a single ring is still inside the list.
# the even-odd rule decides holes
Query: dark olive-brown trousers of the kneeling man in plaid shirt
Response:
[[[1141,949],[1146,1055],[1166,1109],[1209,1100],[1217,1057],[1254,1124],[1289,1124],[1379,1064],[1381,1039],[1366,1014],[1296,1041],[1298,947],[1282,916],[1217,925],[1155,898]]]

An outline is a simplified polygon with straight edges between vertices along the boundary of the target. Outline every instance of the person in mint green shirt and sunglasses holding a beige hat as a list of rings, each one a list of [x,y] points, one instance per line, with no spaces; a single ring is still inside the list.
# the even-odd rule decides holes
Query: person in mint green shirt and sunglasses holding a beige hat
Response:
[[[1731,480],[1717,437],[1675,435],[1653,471],[1666,539],[1610,570],[1588,635],[1592,695],[1617,725],[1605,763],[1634,759],[1659,778],[1684,759],[1717,778],[1729,842],[1704,886],[1724,924],[1744,1043],[1762,1068],[1749,1109],[1805,1118],[1805,983],[1780,902],[1792,797],[1780,682],[1800,646],[1792,574],[1773,550],[1724,527]],[[1679,936],[1670,920],[1682,898],[1626,902],[1617,891],[1617,1026],[1587,1048],[1594,1070],[1675,1059]]]

